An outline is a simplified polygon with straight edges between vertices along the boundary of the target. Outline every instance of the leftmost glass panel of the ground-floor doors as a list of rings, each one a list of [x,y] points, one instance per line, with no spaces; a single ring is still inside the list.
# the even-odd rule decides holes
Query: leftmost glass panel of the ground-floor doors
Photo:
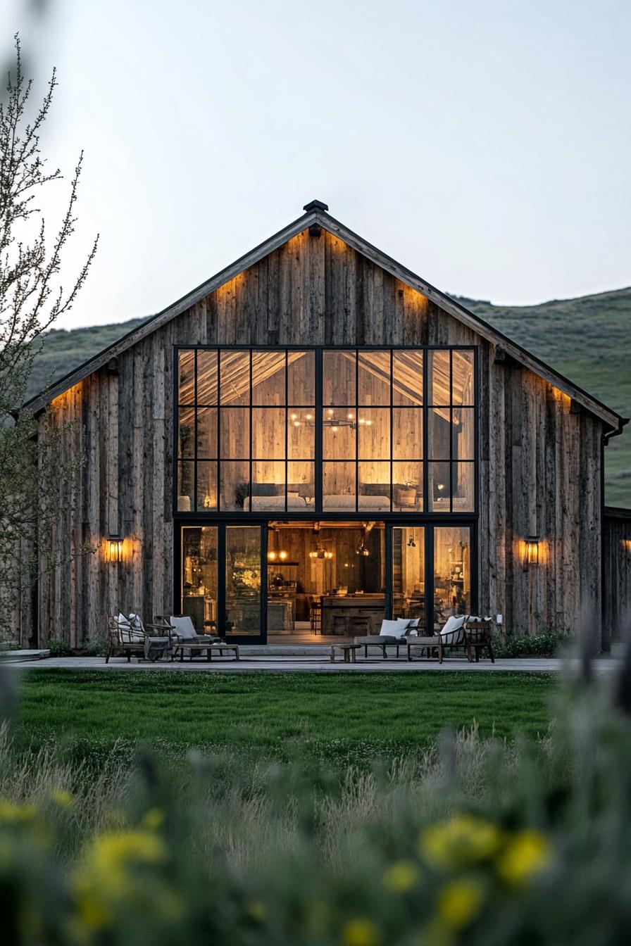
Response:
[[[182,529],[182,614],[198,634],[217,633],[217,540],[217,526]]]

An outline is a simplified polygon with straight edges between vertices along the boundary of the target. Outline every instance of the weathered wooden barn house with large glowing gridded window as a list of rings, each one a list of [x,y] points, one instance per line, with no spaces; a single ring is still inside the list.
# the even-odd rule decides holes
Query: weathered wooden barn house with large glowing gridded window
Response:
[[[624,419],[327,211],[29,403],[74,421],[86,459],[25,643],[82,646],[122,609],[259,643],[464,613],[572,633],[587,613],[608,644]]]

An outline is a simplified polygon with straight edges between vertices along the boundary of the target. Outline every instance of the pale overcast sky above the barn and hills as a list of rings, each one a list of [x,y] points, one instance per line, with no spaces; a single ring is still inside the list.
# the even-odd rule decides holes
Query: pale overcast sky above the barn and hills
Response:
[[[41,2],[41,0],[40,0]],[[629,0],[2,0],[85,151],[65,327],[166,307],[313,198],[440,289],[631,284]],[[3,60],[8,52],[3,48]]]

